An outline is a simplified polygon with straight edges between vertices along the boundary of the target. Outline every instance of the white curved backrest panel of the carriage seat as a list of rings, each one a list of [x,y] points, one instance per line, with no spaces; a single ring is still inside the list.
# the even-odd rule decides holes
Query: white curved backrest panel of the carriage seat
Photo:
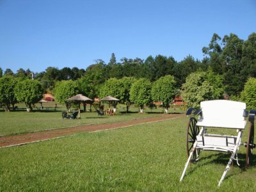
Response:
[[[200,103],[202,116],[198,126],[244,129],[246,104],[232,100],[207,100]]]

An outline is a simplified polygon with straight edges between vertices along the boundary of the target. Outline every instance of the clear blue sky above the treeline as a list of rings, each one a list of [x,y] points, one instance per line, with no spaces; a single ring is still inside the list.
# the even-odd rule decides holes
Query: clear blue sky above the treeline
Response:
[[[202,60],[213,33],[246,40],[255,0],[0,0],[0,67],[84,68],[115,53]]]

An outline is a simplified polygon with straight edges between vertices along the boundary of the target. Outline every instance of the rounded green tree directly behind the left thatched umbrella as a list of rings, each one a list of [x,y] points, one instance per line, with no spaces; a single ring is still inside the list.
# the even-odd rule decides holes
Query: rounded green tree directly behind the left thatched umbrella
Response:
[[[60,104],[65,104],[67,110],[69,110],[71,102],[67,99],[77,95],[78,92],[79,87],[77,81],[58,81],[54,88],[54,97]]]

